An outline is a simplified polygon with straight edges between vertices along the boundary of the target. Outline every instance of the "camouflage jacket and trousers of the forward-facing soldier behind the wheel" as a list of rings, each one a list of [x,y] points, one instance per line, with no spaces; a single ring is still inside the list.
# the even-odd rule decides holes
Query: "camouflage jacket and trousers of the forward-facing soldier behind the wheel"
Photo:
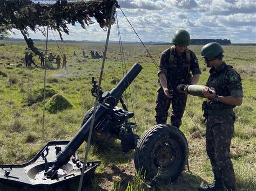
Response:
[[[187,53],[186,53],[187,51]],[[191,82],[191,74],[201,74],[199,69],[198,59],[190,49],[186,49],[180,56],[176,48],[166,49],[160,56],[160,66],[158,76],[163,73],[166,75],[168,89],[173,90],[173,98],[168,98],[164,94],[164,90],[160,87],[156,101],[156,124],[166,123],[168,110],[172,103],[171,124],[174,126],[181,125],[181,118],[183,117],[186,107],[187,95],[179,93],[176,87],[180,83],[189,84]],[[171,59],[171,54],[172,58]],[[187,55],[190,55],[190,63]]]

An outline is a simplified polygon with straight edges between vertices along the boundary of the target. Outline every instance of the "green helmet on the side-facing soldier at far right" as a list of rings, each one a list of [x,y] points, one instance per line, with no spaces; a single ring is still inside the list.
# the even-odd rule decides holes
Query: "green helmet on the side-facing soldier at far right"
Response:
[[[219,43],[208,43],[201,49],[201,58],[215,58],[223,52]]]

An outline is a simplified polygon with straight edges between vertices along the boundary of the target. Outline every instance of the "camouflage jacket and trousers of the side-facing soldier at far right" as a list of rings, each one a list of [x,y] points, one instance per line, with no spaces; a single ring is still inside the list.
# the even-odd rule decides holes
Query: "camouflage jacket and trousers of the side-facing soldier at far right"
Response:
[[[223,62],[217,69],[210,69],[207,87],[215,88],[220,96],[242,97],[241,78],[232,66]],[[223,182],[228,190],[235,190],[235,174],[230,155],[234,134],[235,114],[233,105],[207,100],[205,117],[206,151],[211,160],[215,181]]]

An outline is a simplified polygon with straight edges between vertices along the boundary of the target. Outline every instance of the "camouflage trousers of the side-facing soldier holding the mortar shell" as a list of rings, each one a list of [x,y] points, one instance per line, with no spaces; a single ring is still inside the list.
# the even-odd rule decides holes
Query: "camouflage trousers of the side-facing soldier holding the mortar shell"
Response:
[[[206,151],[212,164],[215,179],[227,190],[235,190],[235,174],[231,161],[230,145],[234,135],[232,116],[208,116],[206,123]]]

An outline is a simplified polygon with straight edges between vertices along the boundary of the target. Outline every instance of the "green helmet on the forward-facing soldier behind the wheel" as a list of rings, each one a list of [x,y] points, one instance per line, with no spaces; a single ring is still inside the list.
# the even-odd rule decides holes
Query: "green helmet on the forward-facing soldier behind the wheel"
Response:
[[[190,33],[180,29],[173,34],[172,43],[179,46],[188,46],[190,45]]]

